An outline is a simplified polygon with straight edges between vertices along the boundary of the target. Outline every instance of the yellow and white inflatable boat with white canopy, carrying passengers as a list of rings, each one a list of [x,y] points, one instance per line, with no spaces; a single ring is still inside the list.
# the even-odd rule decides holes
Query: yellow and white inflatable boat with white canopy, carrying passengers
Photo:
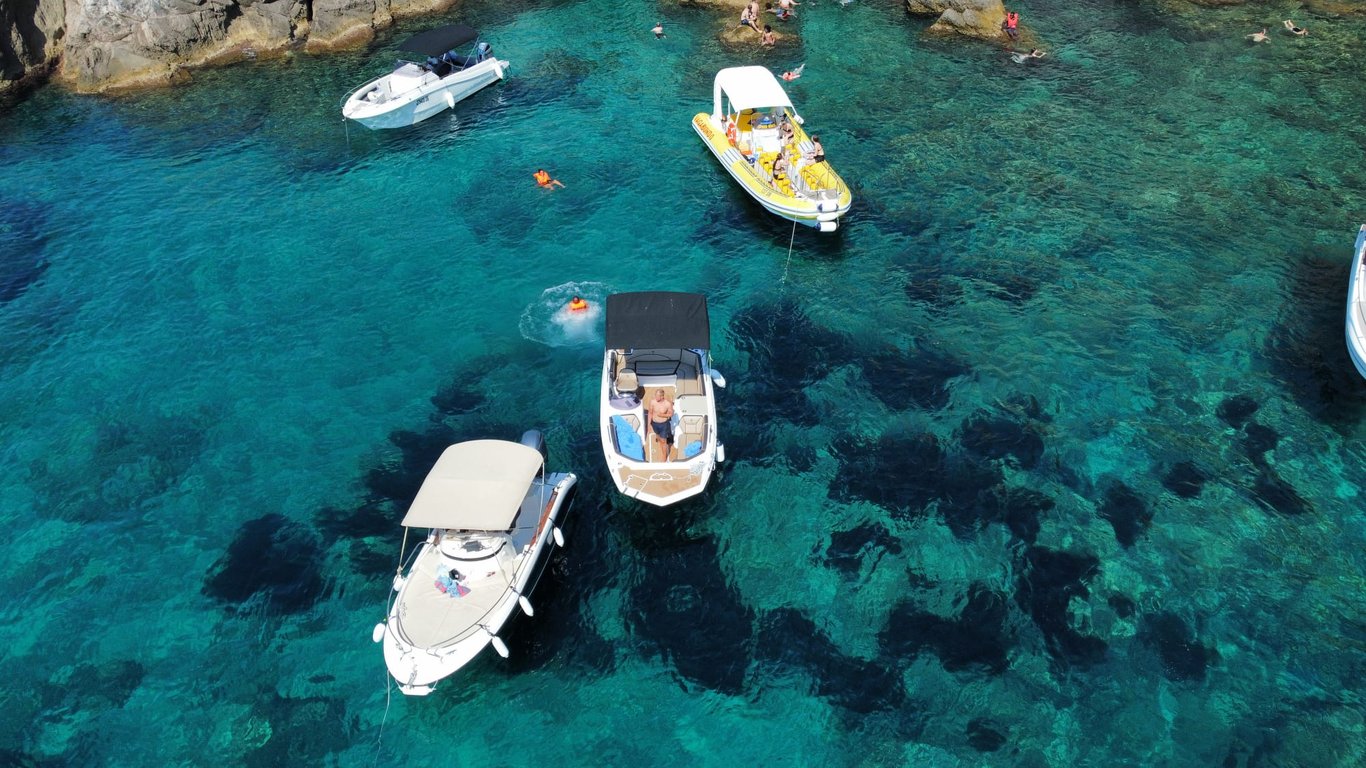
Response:
[[[694,116],[693,130],[759,205],[790,221],[833,232],[852,195],[835,168],[814,153],[802,122],[773,72],[729,67],[716,72],[712,112]],[[785,141],[784,123],[792,128]]]

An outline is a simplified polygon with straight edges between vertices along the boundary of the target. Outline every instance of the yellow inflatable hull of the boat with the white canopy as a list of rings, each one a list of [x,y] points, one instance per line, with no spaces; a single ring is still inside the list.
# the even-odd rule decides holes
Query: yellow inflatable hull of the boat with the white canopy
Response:
[[[788,119],[792,118],[794,115],[788,113]],[[796,131],[792,145],[810,146],[806,133],[796,126],[795,120],[792,126]],[[744,191],[750,193],[750,197],[770,213],[788,221],[832,232],[839,227],[840,216],[848,212],[850,204],[854,201],[848,186],[828,161],[802,165],[798,169],[800,175],[798,184],[794,184],[791,179],[775,180],[770,172],[775,152],[742,152],[750,150],[744,141],[749,134],[740,133],[739,141],[732,143],[725,134],[725,127],[706,112],[699,112],[693,118],[693,130],[702,138],[702,143],[712,150],[721,167],[739,182]],[[798,189],[798,186],[803,189]]]

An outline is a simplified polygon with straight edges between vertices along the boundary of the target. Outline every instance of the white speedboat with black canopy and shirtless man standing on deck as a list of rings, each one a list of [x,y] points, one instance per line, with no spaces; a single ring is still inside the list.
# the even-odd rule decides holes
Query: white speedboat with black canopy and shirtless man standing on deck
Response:
[[[650,291],[607,298],[600,429],[616,489],[664,507],[706,488],[725,448],[716,440],[706,297]],[[671,404],[668,426],[652,426],[650,403]],[[663,410],[663,409],[661,409]]]

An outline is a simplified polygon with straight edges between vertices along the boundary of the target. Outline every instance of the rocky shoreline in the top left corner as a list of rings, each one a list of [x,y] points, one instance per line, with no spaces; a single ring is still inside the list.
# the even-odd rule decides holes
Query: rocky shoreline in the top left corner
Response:
[[[52,71],[81,92],[172,82],[186,67],[331,49],[454,0],[0,0],[10,89]],[[0,90],[3,97],[3,90]]]

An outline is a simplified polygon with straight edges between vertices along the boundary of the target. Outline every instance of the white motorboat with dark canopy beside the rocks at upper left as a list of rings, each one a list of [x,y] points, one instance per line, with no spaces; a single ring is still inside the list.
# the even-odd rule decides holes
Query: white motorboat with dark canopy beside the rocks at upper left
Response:
[[[421,123],[503,79],[508,68],[508,63],[494,57],[493,48],[479,40],[479,33],[464,25],[415,34],[399,48],[421,53],[426,60],[399,60],[392,72],[348,93],[342,105],[344,118],[367,128]]]

